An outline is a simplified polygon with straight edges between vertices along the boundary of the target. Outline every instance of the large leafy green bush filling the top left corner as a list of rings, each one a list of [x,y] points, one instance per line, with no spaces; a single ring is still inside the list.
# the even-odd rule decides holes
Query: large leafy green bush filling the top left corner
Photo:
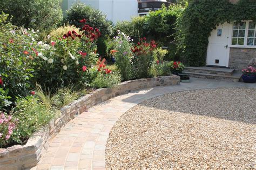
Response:
[[[0,3],[0,11],[8,13],[12,23],[25,28],[50,30],[63,18],[61,0],[8,0]]]

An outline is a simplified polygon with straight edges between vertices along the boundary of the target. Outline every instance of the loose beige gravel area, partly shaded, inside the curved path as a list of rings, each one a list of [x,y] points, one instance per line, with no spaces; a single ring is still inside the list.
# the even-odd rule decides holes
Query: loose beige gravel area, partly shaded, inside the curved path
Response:
[[[166,94],[113,126],[106,168],[256,168],[256,89]]]

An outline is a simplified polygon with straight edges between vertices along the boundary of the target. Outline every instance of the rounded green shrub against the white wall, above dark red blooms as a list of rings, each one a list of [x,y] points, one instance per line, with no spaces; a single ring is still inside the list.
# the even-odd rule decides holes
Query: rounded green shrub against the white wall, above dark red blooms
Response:
[[[69,22],[70,25],[76,25],[79,28],[81,27],[79,21],[86,19],[87,24],[93,28],[98,28],[103,37],[112,34],[112,22],[107,21],[106,15],[98,9],[94,9],[83,3],[76,3],[66,13],[67,17],[65,21]]]

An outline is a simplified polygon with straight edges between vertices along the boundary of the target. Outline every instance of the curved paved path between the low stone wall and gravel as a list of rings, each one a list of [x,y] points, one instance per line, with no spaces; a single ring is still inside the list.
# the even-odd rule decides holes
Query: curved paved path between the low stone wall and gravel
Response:
[[[191,83],[153,87],[112,98],[71,120],[32,169],[105,169],[105,145],[111,128],[131,107],[166,93],[219,87],[256,85],[192,78]]]

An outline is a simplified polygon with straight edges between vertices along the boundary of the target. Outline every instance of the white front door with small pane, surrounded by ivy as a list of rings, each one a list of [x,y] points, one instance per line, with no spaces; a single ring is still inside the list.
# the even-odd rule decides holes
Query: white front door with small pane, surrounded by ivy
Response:
[[[206,65],[228,67],[228,58],[230,55],[230,24],[224,23],[212,31],[208,38]]]

